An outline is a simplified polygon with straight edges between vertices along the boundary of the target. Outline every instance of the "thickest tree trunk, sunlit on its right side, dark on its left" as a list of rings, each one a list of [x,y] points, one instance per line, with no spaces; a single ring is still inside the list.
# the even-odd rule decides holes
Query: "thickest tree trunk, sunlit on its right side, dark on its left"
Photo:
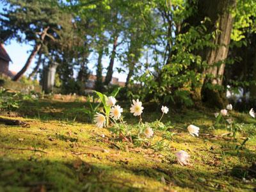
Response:
[[[197,12],[186,20],[189,25],[182,31],[188,31],[189,26],[201,25],[202,20],[208,17],[210,21],[204,23],[207,28],[206,33],[215,33],[212,42],[216,45],[214,48],[204,47],[202,51],[196,52],[202,56],[203,61],[207,62],[208,67],[200,71],[201,86],[195,88],[194,95],[196,99],[211,100],[211,105],[222,108],[225,105],[225,93],[210,90],[207,84],[222,84],[233,26],[232,10],[236,8],[236,0],[198,0],[193,1],[191,6],[196,7]]]

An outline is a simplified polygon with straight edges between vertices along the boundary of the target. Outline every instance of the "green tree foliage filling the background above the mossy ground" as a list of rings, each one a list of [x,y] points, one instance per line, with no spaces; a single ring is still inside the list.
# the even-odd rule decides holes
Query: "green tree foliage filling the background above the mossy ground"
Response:
[[[218,1],[221,2],[225,9],[225,3],[233,1]],[[108,81],[114,71],[127,74],[124,99],[136,97],[193,106],[198,100],[204,101],[202,87],[223,93],[229,85],[230,89],[243,87],[246,92],[253,92],[256,73],[250,72],[256,69],[252,64],[254,59],[248,60],[255,57],[253,0],[236,0],[236,6],[227,7],[234,17],[232,34],[227,34],[231,42],[225,46],[229,47],[229,54],[213,63],[208,53],[220,49],[224,43],[218,42],[223,41],[220,35],[225,32],[218,28],[218,21],[225,14],[221,15],[222,7],[214,8],[212,1],[8,0],[3,3],[6,4],[0,17],[3,42],[16,39],[33,45],[42,43],[38,34],[50,27],[40,50],[44,58],[41,63],[42,68],[58,63],[56,85],[61,86],[62,93],[83,95],[88,75],[95,72],[95,67],[94,89],[99,92],[105,91],[102,82],[106,70]],[[244,56],[241,50],[246,50]],[[106,65],[106,58],[112,62]],[[238,58],[241,62],[237,62]],[[233,67],[233,63],[239,67]],[[225,67],[224,78],[223,72],[216,75],[210,72],[211,68],[221,66]],[[216,85],[212,80],[218,78],[223,78],[223,82]]]

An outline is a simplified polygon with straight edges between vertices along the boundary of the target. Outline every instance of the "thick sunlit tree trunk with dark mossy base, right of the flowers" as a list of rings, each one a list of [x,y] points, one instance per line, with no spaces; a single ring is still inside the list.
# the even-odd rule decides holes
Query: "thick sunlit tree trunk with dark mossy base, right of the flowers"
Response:
[[[203,86],[201,98],[211,107],[224,108],[227,104],[225,92],[209,88],[207,83],[222,85],[225,60],[228,55],[228,46],[230,44],[230,35],[233,26],[232,9],[236,7],[236,0],[207,0],[205,1],[205,5],[207,6],[205,8],[207,15],[214,22],[214,31],[219,30],[220,32],[216,33],[216,38],[213,40],[216,47],[205,49],[203,54],[205,56],[203,60],[207,61],[209,67],[202,74],[201,81]]]

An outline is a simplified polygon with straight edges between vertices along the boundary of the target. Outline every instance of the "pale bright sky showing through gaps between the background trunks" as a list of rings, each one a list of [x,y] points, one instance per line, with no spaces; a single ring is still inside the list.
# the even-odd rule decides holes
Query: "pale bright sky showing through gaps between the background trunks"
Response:
[[[3,3],[0,1],[0,12],[3,11]],[[29,44],[20,44],[16,40],[10,40],[10,42],[6,42],[4,44],[4,47],[6,51],[8,52],[10,58],[12,59],[12,63],[9,65],[9,70],[12,70],[14,72],[19,72],[19,70],[25,65],[26,60],[29,57],[29,54],[33,47]],[[92,53],[89,56],[89,63],[88,63],[88,68],[92,71],[93,74],[96,74],[96,68],[95,68],[95,62],[97,61],[97,55],[95,53]],[[106,74],[106,68],[108,67],[109,63],[109,57],[104,57],[102,59],[102,65],[105,68],[103,75]],[[119,67],[120,62],[115,60],[115,66],[114,67]],[[26,72],[26,75],[30,74],[33,68],[35,67],[35,59],[32,61],[31,66]],[[76,72],[74,73],[76,76]],[[117,77],[119,81],[125,82],[127,74],[119,74],[115,69],[114,69],[114,74],[113,77]]]

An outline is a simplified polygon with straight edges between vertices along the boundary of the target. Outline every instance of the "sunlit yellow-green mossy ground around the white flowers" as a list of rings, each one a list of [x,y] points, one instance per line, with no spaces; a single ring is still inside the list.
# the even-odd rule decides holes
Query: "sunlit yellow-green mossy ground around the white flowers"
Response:
[[[173,154],[186,150],[191,155],[191,165],[180,166],[166,150],[132,147],[113,138],[108,129],[86,123],[85,105],[79,101],[45,99],[24,102],[15,113],[2,114],[24,120],[30,127],[0,124],[0,191],[253,191],[256,188],[255,178],[243,179],[244,168],[256,161],[256,121],[248,114],[232,112],[236,122],[244,123],[237,134],[238,140],[232,140],[227,135],[221,136],[228,132],[224,124],[218,129],[211,128],[215,111],[170,110],[163,121],[172,122],[171,131],[180,133],[168,141],[170,149]],[[125,108],[129,109],[128,105]],[[143,120],[156,120],[161,115],[158,111],[146,107]],[[138,121],[127,111],[124,115],[131,124]],[[199,138],[187,134],[189,124],[200,127]],[[245,147],[236,150],[236,145],[249,134],[251,139]]]

